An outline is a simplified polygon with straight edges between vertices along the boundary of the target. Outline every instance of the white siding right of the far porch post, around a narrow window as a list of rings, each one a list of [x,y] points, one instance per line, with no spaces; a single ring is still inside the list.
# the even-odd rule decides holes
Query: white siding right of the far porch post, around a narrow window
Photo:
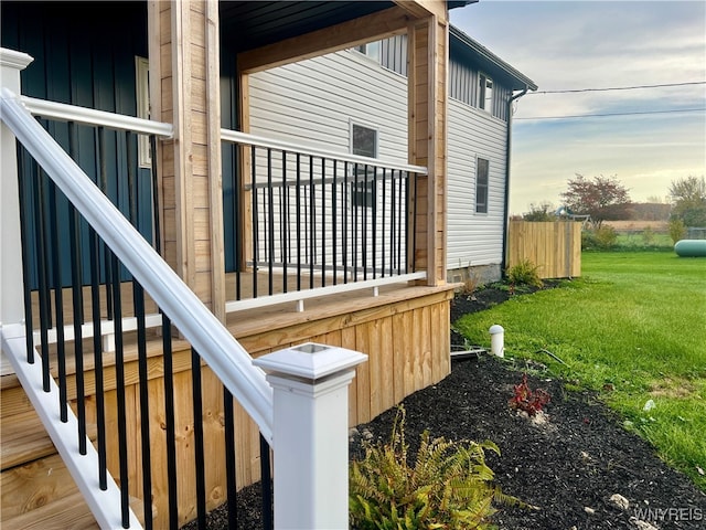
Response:
[[[447,267],[502,263],[506,124],[449,100]],[[475,162],[489,161],[488,213],[475,213]]]

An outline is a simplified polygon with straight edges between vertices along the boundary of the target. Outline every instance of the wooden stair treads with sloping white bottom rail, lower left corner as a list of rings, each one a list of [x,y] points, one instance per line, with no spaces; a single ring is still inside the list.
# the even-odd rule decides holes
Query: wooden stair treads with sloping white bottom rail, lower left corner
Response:
[[[119,528],[117,485],[108,476],[107,490],[97,487],[98,455],[92,443],[95,426],[87,426],[86,455],[81,455],[76,416],[68,409],[68,421],[60,421],[58,389],[53,379],[51,392],[42,390],[39,352],[34,352],[34,363],[28,363],[24,338],[8,339],[7,335],[6,328],[2,350],[17,375],[3,377],[0,388],[0,527],[3,530]],[[97,516],[89,502],[101,507]],[[132,499],[130,504],[130,526],[141,528],[142,501]],[[115,509],[110,510],[110,506]]]

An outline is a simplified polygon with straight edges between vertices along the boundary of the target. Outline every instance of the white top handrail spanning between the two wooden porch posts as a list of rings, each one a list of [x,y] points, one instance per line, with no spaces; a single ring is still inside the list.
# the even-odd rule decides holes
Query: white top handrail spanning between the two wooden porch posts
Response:
[[[291,141],[265,138],[264,136],[250,135],[249,132],[240,132],[239,130],[221,129],[221,139],[232,141],[234,144],[247,144],[249,146],[268,147],[271,149],[281,149],[282,151],[298,152],[300,155],[311,155],[312,157],[330,158],[351,163],[362,163],[367,166],[376,166],[378,168],[396,169],[399,171],[409,171],[411,173],[427,174],[427,168],[424,166],[413,166],[410,163],[396,162],[394,160],[384,160],[381,158],[362,157],[359,155],[350,155],[347,152],[333,151],[328,149],[319,149],[303,144],[295,144]]]

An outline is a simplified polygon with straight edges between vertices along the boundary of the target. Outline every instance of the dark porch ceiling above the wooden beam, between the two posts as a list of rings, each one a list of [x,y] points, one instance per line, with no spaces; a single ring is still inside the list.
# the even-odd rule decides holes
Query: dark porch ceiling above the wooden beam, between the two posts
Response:
[[[221,1],[221,39],[235,53],[365,17],[392,1]]]

